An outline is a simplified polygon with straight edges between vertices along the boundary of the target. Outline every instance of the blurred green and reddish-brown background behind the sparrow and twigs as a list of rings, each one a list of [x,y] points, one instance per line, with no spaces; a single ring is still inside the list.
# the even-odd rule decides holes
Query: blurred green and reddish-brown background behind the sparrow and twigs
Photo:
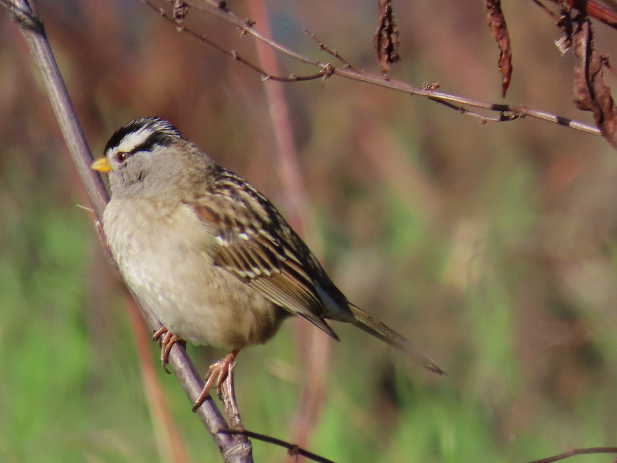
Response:
[[[259,75],[137,0],[37,4],[95,156],[123,123],[160,115],[292,214]],[[379,73],[375,2],[266,5],[276,40],[331,60],[307,27],[355,67]],[[228,6],[251,16],[245,2]],[[482,2],[394,7],[402,61],[392,78],[500,102]],[[505,102],[591,123],[571,103],[574,58],[553,46],[554,21],[531,1],[504,7],[514,56]],[[256,60],[252,39],[233,27],[196,11],[188,23]],[[615,56],[615,31],[595,29],[597,47]],[[284,74],[315,72],[280,65]],[[238,357],[244,425],[291,441],[304,432],[308,449],[339,462],[524,462],[617,445],[617,156],[608,144],[530,118],[481,125],[341,78],[284,91],[308,244],[352,301],[415,340],[449,376],[335,325],[342,342],[325,354],[321,346],[315,422],[299,431],[302,385],[321,378],[307,377],[312,352],[296,343],[299,335],[311,345],[313,328],[286,322],[267,346]],[[91,215],[77,207],[87,199],[4,12],[0,119],[0,461],[169,461],[122,283]],[[202,372],[223,353],[189,346]],[[154,343],[149,354],[186,461],[219,461]],[[287,458],[260,442],[254,456]]]

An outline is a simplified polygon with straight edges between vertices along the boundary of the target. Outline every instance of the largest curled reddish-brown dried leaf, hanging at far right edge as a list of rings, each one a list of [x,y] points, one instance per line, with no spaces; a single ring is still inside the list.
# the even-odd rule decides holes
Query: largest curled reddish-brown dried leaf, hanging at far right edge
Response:
[[[617,108],[610,87],[603,80],[606,58],[594,48],[594,31],[587,17],[581,17],[573,34],[574,103],[594,115],[595,125],[608,143],[617,149]]]

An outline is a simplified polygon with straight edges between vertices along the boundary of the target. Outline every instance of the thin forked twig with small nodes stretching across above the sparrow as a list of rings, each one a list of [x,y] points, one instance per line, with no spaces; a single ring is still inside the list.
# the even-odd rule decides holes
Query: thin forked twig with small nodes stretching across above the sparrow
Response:
[[[154,9],[160,15],[162,15],[166,20],[174,23],[176,27],[178,27],[175,21],[173,20],[173,17],[168,15],[164,9],[159,9],[155,7],[151,3],[151,0],[141,0],[141,1],[146,3],[152,9]],[[319,67],[321,69],[320,72],[318,72],[317,74],[307,75],[303,77],[297,77],[296,75],[292,75],[291,77],[270,75],[270,73],[268,73],[266,70],[260,69],[259,66],[249,62],[249,60],[246,60],[240,57],[237,51],[233,51],[233,50],[230,51],[219,44],[213,43],[211,40],[209,40],[204,35],[201,35],[200,33],[197,33],[196,31],[193,31],[189,28],[178,27],[179,31],[189,33],[190,35],[194,36],[198,40],[204,42],[205,44],[209,44],[210,46],[222,52],[223,54],[230,56],[235,60],[238,60],[239,62],[246,65],[250,69],[255,70],[256,72],[259,72],[263,78],[278,80],[278,81],[300,81],[300,80],[313,80],[315,78],[321,78],[321,77],[329,78],[333,75],[337,75],[339,77],[361,81],[361,82],[368,83],[371,85],[376,85],[382,88],[387,88],[389,90],[395,90],[395,91],[400,91],[400,92],[407,93],[410,95],[418,95],[418,96],[423,96],[425,98],[430,98],[433,101],[439,101],[442,104],[445,104],[445,106],[456,109],[460,114],[468,114],[468,115],[472,115],[473,117],[478,117],[478,119],[481,119],[482,123],[508,122],[511,120],[523,119],[523,117],[529,116],[529,117],[534,117],[536,119],[542,119],[548,122],[557,123],[565,127],[574,128],[576,130],[581,130],[586,133],[591,133],[592,135],[600,135],[600,130],[598,130],[598,128],[596,127],[587,125],[586,123],[578,122],[576,120],[568,119],[566,117],[561,117],[555,114],[550,114],[549,112],[538,111],[536,109],[530,109],[524,106],[509,105],[509,104],[495,104],[495,103],[473,100],[469,98],[463,98],[462,96],[434,91],[434,90],[427,89],[427,88],[414,87],[414,86],[408,85],[407,83],[404,83],[401,81],[391,80],[390,78],[384,78],[382,75],[376,76],[376,75],[368,74],[366,72],[361,72],[361,71],[357,71],[357,70],[350,69],[350,68],[348,69],[346,66],[343,66],[341,68],[334,67],[331,63],[325,63],[319,60],[310,59],[307,56],[303,56],[302,54],[292,51],[291,49],[288,49],[284,47],[283,45],[276,43],[273,40],[268,39],[267,37],[263,36],[262,34],[260,34],[258,31],[256,31],[253,28],[254,23],[251,20],[241,19],[240,17],[238,17],[238,15],[234,14],[230,10],[220,8],[218,6],[218,3],[213,2],[212,0],[201,0],[201,2],[205,4],[205,6],[201,4],[194,4],[193,2],[186,3],[186,4],[191,8],[194,8],[196,10],[201,10],[208,14],[215,15],[216,17],[220,17],[226,22],[231,23],[232,25],[234,25],[234,27],[238,28],[238,30],[241,32],[242,35],[250,34],[254,36],[255,38],[257,38],[258,40],[261,40],[264,43],[268,44],[268,46],[270,46],[271,48],[277,51],[280,51],[281,53],[285,54],[286,56],[291,57],[292,59],[295,59],[304,64]],[[494,112],[496,111],[496,112],[499,112],[500,115],[499,117],[482,116],[474,111],[470,111],[469,107],[485,109],[486,111],[494,111]],[[513,117],[513,115],[515,115],[515,117]]]

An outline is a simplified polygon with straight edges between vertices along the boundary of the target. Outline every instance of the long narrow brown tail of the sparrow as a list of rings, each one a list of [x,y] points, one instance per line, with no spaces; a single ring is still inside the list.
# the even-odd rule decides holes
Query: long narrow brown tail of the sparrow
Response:
[[[420,349],[416,348],[410,341],[406,340],[403,336],[399,335],[399,333],[394,332],[390,328],[386,327],[379,320],[374,319],[371,315],[367,314],[365,311],[360,309],[359,307],[354,306],[354,304],[349,304],[349,308],[351,309],[352,314],[354,315],[354,319],[351,323],[353,323],[358,328],[361,328],[366,333],[379,338],[384,341],[384,343],[390,344],[393,348],[399,350],[404,353],[406,356],[410,357],[414,362],[419,365],[422,365],[424,368],[431,370],[434,373],[439,373],[440,375],[445,375],[446,373],[442,370],[439,365],[433,362],[429,357],[424,354],[424,352],[420,351]]]

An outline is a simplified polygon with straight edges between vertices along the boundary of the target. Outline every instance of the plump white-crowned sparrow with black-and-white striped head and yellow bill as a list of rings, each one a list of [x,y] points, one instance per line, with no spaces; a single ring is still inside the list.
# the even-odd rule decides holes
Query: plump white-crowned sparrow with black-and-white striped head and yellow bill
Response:
[[[92,168],[109,173],[103,228],[120,273],[166,327],[156,333],[164,364],[179,339],[231,349],[210,367],[196,407],[240,349],[268,341],[290,315],[336,340],[326,319],[352,323],[444,374],[347,301],[268,199],[165,120],[127,123]]]

